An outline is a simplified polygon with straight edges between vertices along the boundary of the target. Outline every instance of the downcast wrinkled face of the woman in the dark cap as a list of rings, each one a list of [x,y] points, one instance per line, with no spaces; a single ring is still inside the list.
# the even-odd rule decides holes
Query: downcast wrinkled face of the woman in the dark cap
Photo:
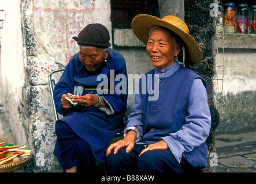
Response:
[[[80,47],[79,60],[84,64],[88,71],[95,71],[99,67],[104,59],[107,58],[109,51],[106,53],[97,47]]]

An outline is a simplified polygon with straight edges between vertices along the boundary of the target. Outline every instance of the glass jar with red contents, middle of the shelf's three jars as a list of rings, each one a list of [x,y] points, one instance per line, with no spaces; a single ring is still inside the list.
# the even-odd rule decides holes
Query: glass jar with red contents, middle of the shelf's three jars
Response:
[[[238,13],[236,17],[236,32],[248,33],[250,9],[246,3],[238,5]]]

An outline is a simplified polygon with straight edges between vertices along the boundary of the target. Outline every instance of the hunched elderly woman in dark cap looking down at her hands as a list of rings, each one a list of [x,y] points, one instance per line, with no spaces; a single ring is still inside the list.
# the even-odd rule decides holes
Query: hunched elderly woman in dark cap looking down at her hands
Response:
[[[87,25],[73,39],[80,51],[54,88],[55,106],[64,115],[55,123],[54,155],[65,172],[94,172],[95,159],[102,160],[110,139],[124,125],[127,91],[116,87],[114,79],[121,74],[127,80],[127,70],[124,57],[109,48],[105,26]]]

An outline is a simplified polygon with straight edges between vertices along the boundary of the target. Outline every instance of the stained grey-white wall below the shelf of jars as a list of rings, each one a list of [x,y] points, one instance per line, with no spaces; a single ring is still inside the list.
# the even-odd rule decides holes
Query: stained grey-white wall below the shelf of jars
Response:
[[[224,39],[226,39],[225,35]],[[256,35],[251,39],[256,43]],[[241,43],[244,42],[243,38],[239,40]],[[218,55],[222,60],[222,48],[219,48]],[[216,89],[222,91],[216,94],[217,109],[220,112],[220,124],[216,132],[254,129],[256,127],[256,50],[225,48],[224,56],[224,76],[221,76],[222,67],[218,71],[219,78],[223,79],[223,86],[222,81],[219,81],[219,90]]]

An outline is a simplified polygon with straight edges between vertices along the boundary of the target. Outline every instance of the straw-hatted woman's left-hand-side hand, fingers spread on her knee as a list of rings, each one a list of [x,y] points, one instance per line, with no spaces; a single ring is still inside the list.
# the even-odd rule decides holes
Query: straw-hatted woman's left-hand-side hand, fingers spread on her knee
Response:
[[[106,155],[108,156],[111,153],[111,150],[113,150],[113,148],[114,148],[114,154],[117,154],[118,150],[120,150],[123,147],[127,147],[125,152],[127,152],[128,154],[134,147],[135,137],[136,137],[136,133],[134,131],[129,131],[127,135],[124,137],[124,139],[111,144],[109,148],[107,148]]]

